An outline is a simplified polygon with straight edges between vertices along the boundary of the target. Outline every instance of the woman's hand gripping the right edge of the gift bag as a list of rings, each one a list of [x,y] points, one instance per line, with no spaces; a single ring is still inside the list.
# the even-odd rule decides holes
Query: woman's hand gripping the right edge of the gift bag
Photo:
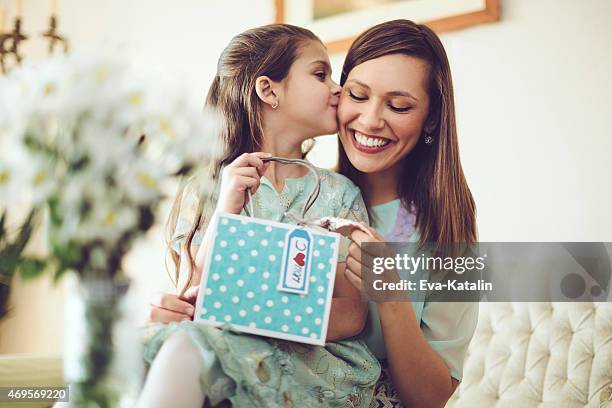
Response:
[[[349,244],[349,253],[346,258],[346,269],[344,271],[346,279],[359,291],[363,289],[363,276],[365,273],[372,273],[371,270],[366,268],[368,262],[361,256],[362,244],[364,242],[386,242],[385,238],[374,228],[367,225],[362,225],[362,227],[365,231],[359,228],[355,228],[351,231],[351,243]],[[371,257],[386,256],[384,252],[385,251],[381,248],[380,253],[367,255]],[[372,265],[371,262],[370,265]]]

